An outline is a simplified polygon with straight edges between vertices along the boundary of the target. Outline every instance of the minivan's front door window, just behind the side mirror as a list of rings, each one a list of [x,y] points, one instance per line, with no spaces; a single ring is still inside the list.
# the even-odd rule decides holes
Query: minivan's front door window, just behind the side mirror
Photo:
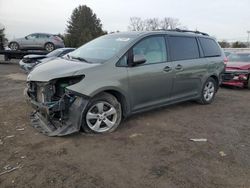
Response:
[[[161,63],[167,61],[165,38],[154,36],[143,39],[133,47],[133,55],[144,55],[145,64]]]

